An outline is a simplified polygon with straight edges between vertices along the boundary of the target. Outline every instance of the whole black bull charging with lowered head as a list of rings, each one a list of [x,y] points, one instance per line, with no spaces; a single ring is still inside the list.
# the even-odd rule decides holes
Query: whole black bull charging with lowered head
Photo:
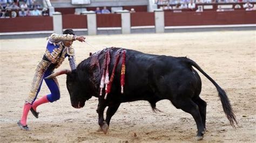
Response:
[[[116,55],[118,49],[120,48],[110,49],[112,58],[109,71],[113,69],[114,55]],[[63,70],[52,75],[57,76],[63,73],[68,75],[66,85],[69,90],[71,104],[74,108],[82,108],[85,105],[85,101],[92,96],[98,97],[98,123],[104,133],[107,132],[111,117],[116,113],[120,103],[139,100],[149,101],[153,111],[155,111],[157,110],[156,103],[158,101],[169,99],[177,109],[181,109],[193,116],[198,128],[197,139],[203,139],[206,128],[206,102],[199,97],[201,79],[192,66],[215,85],[227,119],[233,127],[234,123],[237,124],[232,106],[225,91],[196,62],[185,57],[176,58],[173,56],[145,54],[126,49],[124,93],[120,93],[122,62],[120,60],[114,76],[111,92],[104,99],[104,90],[103,95],[99,96],[99,85],[102,75],[102,69],[99,67],[103,65],[105,51],[106,49],[97,53],[98,62],[92,62],[92,60],[95,60],[93,59],[93,57],[95,58],[93,54],[79,63],[76,70],[72,72],[70,70]],[[103,113],[106,106],[109,108],[106,111],[106,118],[104,119]]]

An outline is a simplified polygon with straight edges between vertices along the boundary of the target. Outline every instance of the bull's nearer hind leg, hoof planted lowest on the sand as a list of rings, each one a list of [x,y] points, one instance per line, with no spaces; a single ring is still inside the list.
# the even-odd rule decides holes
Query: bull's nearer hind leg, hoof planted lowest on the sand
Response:
[[[194,103],[191,99],[187,100],[179,100],[177,102],[172,101],[173,105],[176,106],[176,108],[181,109],[187,113],[190,113],[197,124],[197,140],[202,140],[204,138],[204,125],[200,116],[199,108],[196,103]]]

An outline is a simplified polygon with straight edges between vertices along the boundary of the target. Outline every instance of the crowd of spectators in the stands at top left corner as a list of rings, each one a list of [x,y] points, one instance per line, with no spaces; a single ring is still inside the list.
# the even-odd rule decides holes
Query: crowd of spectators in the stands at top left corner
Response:
[[[0,18],[48,16],[48,13],[36,0],[0,0]]]

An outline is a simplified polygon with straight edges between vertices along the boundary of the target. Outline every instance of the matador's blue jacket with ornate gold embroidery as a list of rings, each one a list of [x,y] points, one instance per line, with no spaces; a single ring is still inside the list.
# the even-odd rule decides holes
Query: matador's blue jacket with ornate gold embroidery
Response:
[[[66,47],[63,44],[64,40],[75,40],[76,35],[71,34],[51,34],[48,38],[48,44],[43,56],[43,60],[50,61],[52,64],[49,68],[52,70],[58,68],[62,65],[62,62],[65,60],[66,56],[69,57],[69,61],[75,63],[75,49],[70,46]],[[73,65],[74,66],[74,65]],[[72,67],[71,67],[72,69]]]

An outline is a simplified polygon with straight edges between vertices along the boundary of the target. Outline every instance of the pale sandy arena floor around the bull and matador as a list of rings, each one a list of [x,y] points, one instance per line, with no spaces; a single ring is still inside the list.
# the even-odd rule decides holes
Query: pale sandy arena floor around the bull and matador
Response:
[[[129,34],[87,36],[97,49],[104,46],[135,49],[145,53],[187,56],[196,61],[230,98],[239,121],[234,130],[223,112],[214,85],[200,74],[203,81],[201,98],[207,102],[207,132],[199,142],[255,142],[256,135],[256,31],[221,31],[164,34]],[[46,46],[44,38],[0,40],[1,110],[0,140],[39,142],[193,142],[196,123],[191,115],[174,108],[170,101],[157,103],[163,112],[153,113],[148,102],[121,104],[111,120],[109,133],[98,131],[97,98],[86,102],[83,109],[72,108],[65,85],[59,76],[61,98],[38,107],[39,118],[29,113],[31,131],[22,131],[17,121],[22,115],[35,66]],[[96,52],[85,43],[74,42],[77,63]],[[69,68],[66,59],[62,68]],[[43,83],[38,97],[49,94]]]

